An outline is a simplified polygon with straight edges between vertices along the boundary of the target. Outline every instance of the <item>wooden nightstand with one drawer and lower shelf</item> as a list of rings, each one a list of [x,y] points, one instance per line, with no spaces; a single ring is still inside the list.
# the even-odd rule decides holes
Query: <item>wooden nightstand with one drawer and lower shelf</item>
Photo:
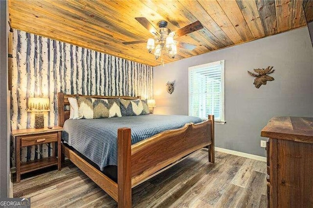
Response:
[[[12,136],[16,138],[16,182],[21,180],[21,174],[38,170],[48,166],[58,166],[61,170],[61,132],[63,128],[53,126],[51,129],[45,127],[41,129],[27,128],[12,131]],[[55,147],[52,156],[26,163],[21,163],[21,147],[40,145],[45,143],[57,143],[58,154]],[[54,145],[55,146],[55,145]]]

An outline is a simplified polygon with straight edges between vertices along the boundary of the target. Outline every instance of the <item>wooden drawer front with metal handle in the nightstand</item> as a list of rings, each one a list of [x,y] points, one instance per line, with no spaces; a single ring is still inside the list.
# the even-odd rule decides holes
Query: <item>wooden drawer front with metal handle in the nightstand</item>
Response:
[[[58,132],[22,136],[21,146],[31,146],[49,142],[58,142]]]

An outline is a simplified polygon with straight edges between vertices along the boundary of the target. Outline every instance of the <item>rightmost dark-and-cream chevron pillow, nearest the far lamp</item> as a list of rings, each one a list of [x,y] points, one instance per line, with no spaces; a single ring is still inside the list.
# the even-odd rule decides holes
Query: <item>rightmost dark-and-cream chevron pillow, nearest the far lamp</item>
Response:
[[[124,100],[120,99],[122,116],[138,116],[149,114],[147,100]]]

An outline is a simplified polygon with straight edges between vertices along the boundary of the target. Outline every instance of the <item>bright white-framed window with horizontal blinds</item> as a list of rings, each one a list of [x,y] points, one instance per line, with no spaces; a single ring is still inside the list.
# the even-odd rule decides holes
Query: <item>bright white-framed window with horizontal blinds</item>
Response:
[[[189,116],[224,123],[224,62],[189,67]]]

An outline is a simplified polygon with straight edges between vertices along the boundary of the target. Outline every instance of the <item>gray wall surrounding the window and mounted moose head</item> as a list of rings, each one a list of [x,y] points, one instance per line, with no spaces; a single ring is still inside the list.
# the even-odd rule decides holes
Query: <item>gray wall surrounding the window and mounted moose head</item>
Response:
[[[188,67],[225,60],[225,125],[218,147],[265,156],[261,129],[273,116],[313,117],[313,47],[308,27],[154,67],[156,114],[188,115]],[[274,66],[274,81],[255,88],[247,70]],[[172,95],[165,83],[176,81]]]

